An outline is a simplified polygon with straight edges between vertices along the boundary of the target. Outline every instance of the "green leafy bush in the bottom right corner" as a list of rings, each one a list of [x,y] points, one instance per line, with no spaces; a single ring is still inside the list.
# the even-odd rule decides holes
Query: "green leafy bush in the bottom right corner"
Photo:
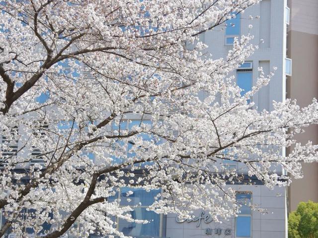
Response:
[[[288,238],[318,238],[318,203],[300,202],[289,214]]]

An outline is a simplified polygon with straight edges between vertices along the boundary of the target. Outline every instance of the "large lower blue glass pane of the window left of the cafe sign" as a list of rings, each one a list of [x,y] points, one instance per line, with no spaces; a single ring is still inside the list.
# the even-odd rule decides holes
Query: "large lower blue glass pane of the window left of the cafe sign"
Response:
[[[130,214],[134,219],[148,220],[147,224],[137,224],[127,222],[125,220],[119,220],[119,231],[124,233],[126,236],[132,237],[158,237],[160,227],[160,215],[147,211],[146,208],[135,208]]]

